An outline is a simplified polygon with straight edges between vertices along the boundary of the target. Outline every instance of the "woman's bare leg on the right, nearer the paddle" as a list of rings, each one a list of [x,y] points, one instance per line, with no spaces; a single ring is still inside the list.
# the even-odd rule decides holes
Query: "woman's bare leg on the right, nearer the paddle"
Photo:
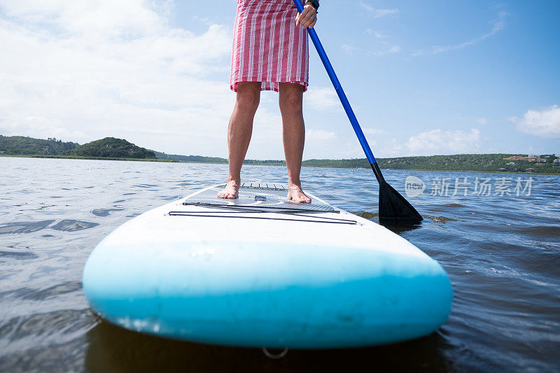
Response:
[[[303,86],[294,83],[280,83],[280,113],[282,114],[284,155],[288,167],[288,199],[293,202],[309,203],[300,181],[305,125],[303,122]]]

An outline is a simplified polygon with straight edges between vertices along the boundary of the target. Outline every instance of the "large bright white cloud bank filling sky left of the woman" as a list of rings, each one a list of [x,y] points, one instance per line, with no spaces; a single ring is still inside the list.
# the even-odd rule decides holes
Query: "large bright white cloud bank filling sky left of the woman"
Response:
[[[169,27],[170,7],[0,0],[0,132],[224,155],[230,29]]]

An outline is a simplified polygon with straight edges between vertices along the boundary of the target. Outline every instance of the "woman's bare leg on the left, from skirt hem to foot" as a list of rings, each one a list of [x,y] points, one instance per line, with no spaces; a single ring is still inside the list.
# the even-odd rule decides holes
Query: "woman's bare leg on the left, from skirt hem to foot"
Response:
[[[241,166],[253,133],[253,118],[260,100],[260,82],[237,83],[237,99],[228,125],[228,182],[220,198],[237,198],[241,185]]]

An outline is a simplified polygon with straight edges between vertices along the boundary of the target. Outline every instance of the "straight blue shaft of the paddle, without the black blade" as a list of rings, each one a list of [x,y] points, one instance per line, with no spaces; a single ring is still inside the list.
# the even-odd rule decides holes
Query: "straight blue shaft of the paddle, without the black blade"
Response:
[[[303,11],[303,4],[301,3],[301,1],[293,0],[293,2],[295,3],[297,11],[301,13]],[[332,85],[334,85],[335,90],[337,91],[340,102],[342,102],[342,106],[344,106],[344,111],[346,111],[346,115],[348,115],[348,119],[350,120],[354,132],[356,132],[356,136],[358,136],[358,141],[360,141],[360,145],[362,146],[367,160],[370,162],[370,164],[377,163],[375,157],[373,156],[372,150],[370,149],[370,146],[365,139],[360,124],[358,123],[356,114],[354,114],[354,111],[352,110],[352,107],[350,106],[350,103],[346,98],[346,94],[344,93],[344,90],[342,90],[342,86],[340,85],[340,82],[337,78],[335,69],[332,69],[332,64],[330,64],[327,53],[325,52],[325,49],[323,48],[323,45],[321,44],[321,41],[319,40],[315,29],[308,28],[307,31],[309,32],[309,36],[311,36],[311,41],[313,41],[319,57],[321,57],[321,61],[323,61],[323,65],[325,65],[325,69],[327,70],[330,81],[332,81]]]

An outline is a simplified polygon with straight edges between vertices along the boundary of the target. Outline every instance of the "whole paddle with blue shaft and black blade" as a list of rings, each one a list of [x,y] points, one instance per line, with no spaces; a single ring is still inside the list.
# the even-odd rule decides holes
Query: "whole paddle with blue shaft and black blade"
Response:
[[[301,1],[293,0],[293,2],[295,3],[297,10],[301,13],[303,10]],[[356,115],[346,98],[346,94],[344,94],[344,90],[342,90],[342,86],[335,74],[335,70],[332,69],[332,65],[330,64],[327,54],[323,49],[323,45],[321,45],[321,41],[319,41],[315,29],[308,28],[307,31],[309,32],[309,36],[311,36],[311,41],[313,41],[319,57],[321,57],[321,61],[323,61],[323,65],[325,65],[325,69],[332,81],[332,85],[335,86],[340,102],[342,102],[342,106],[344,106],[344,111],[346,111],[346,115],[348,115],[348,119],[350,120],[354,132],[356,132],[356,136],[358,136],[358,141],[360,141],[360,145],[362,146],[365,156],[370,162],[373,173],[379,182],[379,221],[386,220],[389,222],[402,222],[410,224],[421,222],[422,217],[418,211],[409,204],[405,197],[402,197],[399,192],[391,187],[391,185],[388,185],[385,181],[385,178],[381,174],[381,170],[377,165],[377,161],[373,156],[372,150],[367,144],[367,140],[365,139],[362,129],[358,124],[358,119],[356,119]]]

